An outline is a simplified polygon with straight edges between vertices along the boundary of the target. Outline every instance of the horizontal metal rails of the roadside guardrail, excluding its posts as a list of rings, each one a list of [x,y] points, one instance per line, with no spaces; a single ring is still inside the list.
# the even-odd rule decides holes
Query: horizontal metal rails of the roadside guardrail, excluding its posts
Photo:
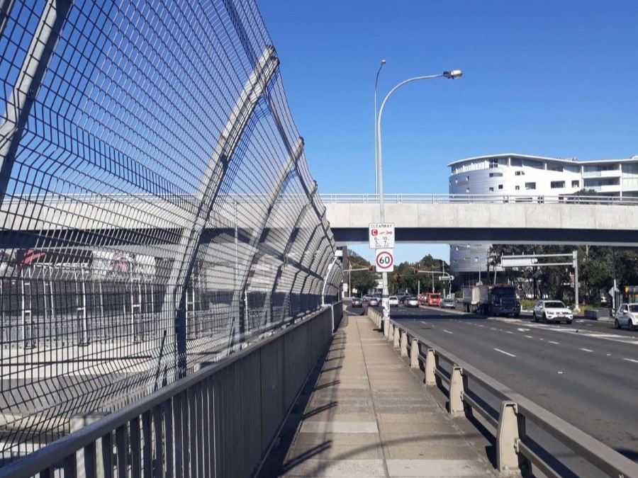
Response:
[[[369,309],[369,311],[373,314],[379,315],[376,311],[374,311],[374,309]],[[460,367],[462,375],[474,380],[474,382],[476,382],[480,387],[491,393],[500,401],[514,402],[517,404],[518,414],[521,414],[525,417],[525,419],[529,419],[535,423],[535,425],[543,431],[549,433],[549,435],[554,437],[567,448],[573,450],[574,453],[583,457],[584,460],[591,463],[591,465],[598,468],[598,470],[608,473],[610,476],[638,477],[638,465],[636,463],[632,462],[632,460],[629,460],[627,457],[620,455],[620,453],[617,453],[615,450],[612,450],[612,448],[600,442],[600,440],[593,438],[579,428],[567,423],[563,419],[552,414],[552,412],[544,409],[535,402],[532,402],[530,399],[514,392],[507,385],[498,382],[498,380],[490,377],[484,372],[481,372],[481,370],[478,370],[465,360],[461,360],[456,355],[440,348],[435,343],[432,343],[432,341],[426,340],[419,334],[408,330],[405,326],[398,324],[392,319],[389,322],[391,327],[406,334],[408,338],[406,345],[407,348],[410,349],[410,352],[412,343],[411,339],[415,339],[418,344],[434,351],[437,358],[444,360],[446,363],[449,363],[449,365],[452,365],[452,367]],[[420,353],[420,350],[418,353],[418,360],[423,364],[427,361],[427,357],[423,356]],[[435,369],[435,375],[437,375],[442,382],[446,383],[448,389],[451,387],[452,377],[448,378],[445,376],[440,368]],[[483,416],[483,418],[491,416],[487,409],[479,405],[474,399],[471,399],[471,397],[469,397],[469,395],[465,392],[466,391],[462,394],[464,404],[467,404],[471,407],[471,409],[476,410],[476,412]],[[495,426],[493,419],[486,419],[486,421],[490,423],[491,426]],[[498,428],[498,426],[495,426],[495,428]],[[553,470],[550,464],[542,460],[542,458],[525,445],[522,440],[517,441],[516,448],[517,453],[524,456],[532,463],[532,465],[536,465],[540,470],[549,470],[552,474],[554,474],[554,476],[559,476],[558,472]]]

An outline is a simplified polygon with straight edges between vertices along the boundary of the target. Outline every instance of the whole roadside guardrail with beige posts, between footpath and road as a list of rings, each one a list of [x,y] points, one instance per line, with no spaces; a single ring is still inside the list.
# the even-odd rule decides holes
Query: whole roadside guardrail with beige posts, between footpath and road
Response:
[[[450,414],[456,416],[464,415],[468,409],[471,409],[471,411],[476,411],[477,414],[483,417],[489,426],[496,429],[493,435],[497,440],[497,467],[500,471],[512,470],[513,466],[517,467],[518,465],[515,465],[515,462],[518,462],[520,457],[522,457],[545,474],[555,477],[561,476],[527,442],[525,421],[529,420],[598,470],[614,477],[638,477],[638,464],[612,450],[600,440],[593,438],[542,406],[523,397],[507,385],[498,382],[498,380],[481,372],[481,370],[478,370],[465,360],[461,360],[461,358],[446,351],[444,348],[440,348],[420,334],[415,334],[402,324],[398,324],[391,319],[388,321],[388,325],[385,326],[382,324],[379,312],[376,312],[371,307],[368,308],[368,315],[376,326],[379,328],[384,326],[384,335],[386,335],[388,341],[393,341],[395,348],[401,349],[401,355],[410,356],[410,365],[413,368],[420,368],[422,365],[425,371],[426,385],[437,385],[437,380],[435,379],[447,385]],[[421,347],[427,351],[426,355],[422,355]],[[452,373],[449,377],[440,368],[439,360],[443,360],[451,366]],[[498,419],[495,419],[490,411],[481,406],[478,401],[471,398],[469,392],[476,394],[477,397],[482,399],[476,393],[476,390],[467,388],[468,379],[473,380],[481,388],[492,394],[493,397],[500,400],[501,407]],[[504,438],[508,439],[503,440]],[[537,445],[544,453],[551,455],[549,450],[542,448],[539,444]]]

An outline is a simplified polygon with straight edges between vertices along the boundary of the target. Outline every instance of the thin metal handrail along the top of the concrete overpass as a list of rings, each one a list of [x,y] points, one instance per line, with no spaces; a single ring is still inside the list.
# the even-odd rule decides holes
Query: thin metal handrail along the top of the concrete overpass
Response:
[[[378,194],[320,194],[324,204],[374,204]],[[585,195],[493,195],[493,194],[384,194],[390,204],[565,204],[565,205],[638,205],[638,198]]]

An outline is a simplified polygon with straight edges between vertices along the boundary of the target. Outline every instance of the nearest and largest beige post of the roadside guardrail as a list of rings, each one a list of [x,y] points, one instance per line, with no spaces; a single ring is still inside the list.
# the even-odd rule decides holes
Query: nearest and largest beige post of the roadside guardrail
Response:
[[[525,417],[515,402],[501,402],[496,433],[496,467],[500,472],[518,470],[518,442],[525,438]]]

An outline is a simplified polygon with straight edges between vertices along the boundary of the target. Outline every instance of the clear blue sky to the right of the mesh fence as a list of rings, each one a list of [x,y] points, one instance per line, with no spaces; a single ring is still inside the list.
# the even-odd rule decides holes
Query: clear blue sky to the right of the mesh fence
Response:
[[[257,0],[321,193],[374,192],[374,76],[387,193],[447,193],[450,161],[638,154],[638,1]],[[367,246],[357,251],[366,253]],[[446,246],[401,246],[397,261]],[[371,254],[365,254],[371,256]]]

